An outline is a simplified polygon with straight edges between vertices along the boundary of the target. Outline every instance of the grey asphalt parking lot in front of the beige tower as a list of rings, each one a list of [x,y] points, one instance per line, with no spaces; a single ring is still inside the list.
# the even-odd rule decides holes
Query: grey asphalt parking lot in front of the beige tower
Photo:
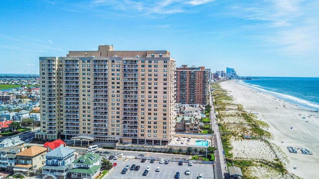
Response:
[[[187,163],[178,165],[178,162],[160,164],[160,161],[158,160],[156,160],[154,163],[150,163],[150,160],[146,160],[144,163],[142,163],[141,159],[130,158],[127,161],[124,161],[124,159],[125,158],[114,160],[114,162],[117,163],[117,167],[108,177],[106,177],[107,179],[174,179],[176,172],[180,172],[180,179],[197,179],[199,174],[202,174],[204,178],[213,179],[213,166],[210,164],[194,163],[193,166],[188,166]],[[126,174],[121,174],[126,165],[130,165],[131,167],[133,164],[139,165],[141,168],[138,171],[129,170]],[[142,176],[147,166],[151,166],[151,170],[147,176]],[[157,167],[161,168],[160,172],[155,172]],[[190,169],[190,175],[185,175],[187,168]]]

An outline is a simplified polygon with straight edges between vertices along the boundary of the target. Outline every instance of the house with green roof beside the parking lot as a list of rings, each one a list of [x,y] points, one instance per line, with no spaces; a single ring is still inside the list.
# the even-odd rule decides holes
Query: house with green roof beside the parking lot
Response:
[[[95,179],[101,171],[101,156],[97,153],[86,153],[75,160],[74,169],[70,172],[73,179]]]

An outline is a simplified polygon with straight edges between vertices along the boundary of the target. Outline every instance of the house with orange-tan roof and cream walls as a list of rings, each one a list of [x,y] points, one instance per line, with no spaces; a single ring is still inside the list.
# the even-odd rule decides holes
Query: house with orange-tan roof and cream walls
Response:
[[[17,164],[13,171],[23,173],[27,177],[35,175],[46,164],[45,154],[47,149],[39,146],[32,146],[17,154]]]

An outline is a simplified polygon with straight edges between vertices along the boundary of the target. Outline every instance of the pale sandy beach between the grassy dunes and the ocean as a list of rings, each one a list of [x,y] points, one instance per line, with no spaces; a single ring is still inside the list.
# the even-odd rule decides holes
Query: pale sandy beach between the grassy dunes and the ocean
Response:
[[[258,120],[269,124],[269,128],[265,128],[273,135],[273,139],[270,139],[269,142],[279,146],[283,153],[287,155],[289,163],[286,167],[290,173],[304,179],[319,179],[318,112],[307,111],[235,81],[221,82],[220,85],[234,98],[235,103],[242,104],[247,112],[256,114]],[[305,117],[305,119],[302,117]],[[244,145],[238,144],[238,146]],[[250,150],[258,150],[257,147],[249,146]],[[287,146],[306,148],[313,155],[302,154],[300,150],[298,150],[298,153],[290,153]],[[265,158],[273,157],[265,156],[265,154],[263,153]],[[297,169],[293,169],[293,166],[297,166]]]

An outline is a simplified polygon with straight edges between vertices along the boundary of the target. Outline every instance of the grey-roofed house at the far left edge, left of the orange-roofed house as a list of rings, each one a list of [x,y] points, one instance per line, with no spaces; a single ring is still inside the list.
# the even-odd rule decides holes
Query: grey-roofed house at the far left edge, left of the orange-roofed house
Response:
[[[19,146],[2,147],[0,148],[0,168],[6,171],[13,171],[17,164],[17,153],[21,152]]]

